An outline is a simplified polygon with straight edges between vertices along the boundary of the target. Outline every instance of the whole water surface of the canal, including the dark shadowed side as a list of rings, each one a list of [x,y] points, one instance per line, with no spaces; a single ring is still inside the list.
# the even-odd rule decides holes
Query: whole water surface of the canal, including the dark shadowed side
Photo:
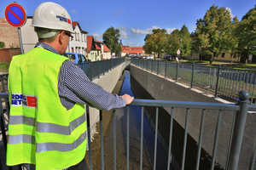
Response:
[[[136,80],[131,77],[129,71],[125,71],[120,77],[119,83],[114,89],[115,94],[130,94],[136,99],[153,99]],[[127,146],[127,107],[118,109],[116,114],[116,154],[117,169],[126,169],[126,146]],[[167,169],[167,152],[170,130],[170,115],[160,108],[159,133],[157,144],[156,169]],[[103,135],[104,135],[104,167],[113,169],[113,111],[103,111]],[[146,108],[143,116],[143,170],[154,169],[154,120],[155,108]],[[130,150],[129,150],[129,169],[140,169],[140,150],[141,150],[141,107],[130,106]],[[100,132],[99,123],[96,126]],[[96,134],[91,143],[92,149],[92,169],[102,169],[100,134]],[[184,169],[195,169],[197,147],[196,142],[188,136],[187,156]],[[173,122],[172,137],[172,166],[171,169],[179,169],[178,164],[182,162],[183,153],[183,128],[177,122]],[[211,165],[202,150],[200,169],[209,169]],[[89,153],[86,153],[86,161],[89,163]],[[177,161],[176,161],[177,160]],[[215,168],[216,169],[216,168]],[[218,169],[218,168],[217,168]]]

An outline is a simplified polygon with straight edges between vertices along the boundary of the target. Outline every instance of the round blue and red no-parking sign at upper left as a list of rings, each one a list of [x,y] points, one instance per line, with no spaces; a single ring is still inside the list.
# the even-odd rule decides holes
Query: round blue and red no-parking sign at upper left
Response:
[[[20,27],[26,23],[26,10],[18,3],[9,3],[4,9],[4,17],[10,26]]]

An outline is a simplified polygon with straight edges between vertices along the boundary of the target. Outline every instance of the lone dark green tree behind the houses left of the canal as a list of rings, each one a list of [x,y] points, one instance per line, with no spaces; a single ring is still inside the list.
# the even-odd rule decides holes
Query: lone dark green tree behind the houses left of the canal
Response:
[[[122,47],[119,44],[119,37],[119,29],[114,29],[113,26],[103,33],[103,42],[112,53],[119,54],[122,51]]]

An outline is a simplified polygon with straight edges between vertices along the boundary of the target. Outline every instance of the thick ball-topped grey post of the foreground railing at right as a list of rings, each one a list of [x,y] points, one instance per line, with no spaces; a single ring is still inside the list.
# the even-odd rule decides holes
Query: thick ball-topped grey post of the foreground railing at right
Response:
[[[244,128],[247,120],[247,111],[250,101],[250,94],[247,91],[240,91],[238,94],[238,103],[240,111],[236,111],[235,126],[232,134],[230,146],[230,154],[228,158],[227,170],[236,170],[241,151],[241,142],[244,133]]]

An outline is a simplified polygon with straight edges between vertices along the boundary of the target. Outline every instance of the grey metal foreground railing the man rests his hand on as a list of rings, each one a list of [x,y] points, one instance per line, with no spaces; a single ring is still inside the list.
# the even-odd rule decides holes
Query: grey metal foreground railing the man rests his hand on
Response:
[[[1,160],[0,160],[0,166],[1,169],[4,169],[3,167],[6,167],[4,165],[3,160],[5,160],[5,154],[6,154],[6,133],[8,131],[8,117],[9,117],[9,94],[0,94],[0,98],[2,101],[2,105],[0,106],[1,111],[1,133],[2,133],[2,141],[3,142],[3,148],[4,151],[1,150]],[[236,170],[238,167],[239,162],[239,156],[241,152],[241,143],[244,136],[244,129],[246,126],[246,120],[247,120],[247,111],[256,111],[256,105],[249,105],[248,100],[248,93],[247,92],[240,92],[239,93],[239,99],[237,102],[237,105],[233,104],[220,104],[220,103],[202,103],[202,102],[184,102],[184,101],[167,101],[167,100],[152,100],[152,99],[134,99],[134,101],[131,103],[131,105],[140,105],[142,107],[141,116],[141,146],[140,146],[140,169],[143,169],[143,114],[144,114],[144,108],[146,106],[154,106],[156,107],[155,112],[155,129],[154,132],[158,132],[158,117],[159,117],[159,108],[160,107],[168,107],[171,108],[171,125],[170,125],[170,138],[169,138],[169,148],[168,148],[168,163],[167,163],[167,169],[169,170],[171,167],[171,153],[172,153],[172,126],[173,126],[173,114],[175,108],[184,108],[186,110],[186,121],[184,126],[184,138],[183,138],[183,158],[181,163],[181,169],[184,169],[185,167],[185,157],[186,157],[186,145],[187,145],[187,137],[188,137],[188,128],[189,128],[189,110],[191,109],[200,109],[201,110],[201,128],[200,128],[200,135],[198,139],[198,150],[197,150],[197,159],[196,159],[196,167],[195,169],[198,170],[201,162],[201,148],[202,148],[202,134],[204,130],[204,122],[205,122],[205,115],[206,110],[217,110],[218,111],[218,122],[216,126],[215,131],[215,138],[212,143],[214,143],[213,150],[212,150],[212,165],[211,168],[213,170],[214,168],[214,162],[216,159],[216,152],[217,152],[217,146],[218,146],[218,132],[220,129],[220,122],[221,122],[221,116],[223,111],[235,111],[236,118],[233,122],[233,130],[232,135],[230,139],[230,152],[229,156],[226,161],[226,169],[228,170]],[[126,115],[127,115],[127,133],[126,133],[126,169],[129,169],[129,161],[130,161],[130,105],[127,107]],[[102,169],[104,169],[104,150],[103,150],[103,134],[102,134],[102,111],[100,111],[100,135],[101,135],[101,156],[102,156]],[[90,139],[90,113],[89,113],[89,106],[86,106],[86,116],[87,116],[87,131],[88,131],[88,139]],[[115,126],[115,111],[113,111],[113,169],[117,168],[117,150],[116,150],[116,126]],[[157,152],[157,137],[158,135],[155,135],[154,137],[154,169],[155,169],[155,162],[156,162],[156,152]],[[254,139],[255,140],[255,139]],[[92,151],[91,151],[91,143],[89,141],[89,158],[90,158],[90,169],[92,169]],[[254,142],[255,143],[255,142]],[[249,169],[253,170],[254,168],[254,162],[256,157],[256,146],[253,146],[253,154],[251,156],[250,166]],[[12,167],[9,167],[9,169],[12,169]],[[194,169],[194,168],[193,168]]]

